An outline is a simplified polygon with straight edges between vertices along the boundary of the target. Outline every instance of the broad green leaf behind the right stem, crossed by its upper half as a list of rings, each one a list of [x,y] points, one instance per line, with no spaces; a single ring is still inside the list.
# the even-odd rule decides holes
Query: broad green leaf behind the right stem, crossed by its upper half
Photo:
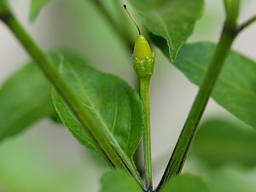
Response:
[[[166,55],[166,44],[157,44]],[[201,84],[216,45],[186,44],[174,65],[194,84]],[[256,128],[256,63],[231,51],[212,92],[212,98],[238,119]]]

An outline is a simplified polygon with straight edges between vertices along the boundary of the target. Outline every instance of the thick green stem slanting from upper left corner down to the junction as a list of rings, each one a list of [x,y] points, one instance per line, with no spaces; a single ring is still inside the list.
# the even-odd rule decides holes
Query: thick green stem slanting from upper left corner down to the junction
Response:
[[[2,8],[4,8],[3,12]],[[137,182],[143,186],[137,168],[130,158],[119,148],[113,148],[111,145],[113,141],[108,141],[108,139],[111,140],[112,137],[106,136],[102,131],[97,130],[96,121],[93,120],[90,112],[83,107],[84,105],[79,101],[79,98],[73,94],[73,91],[66,84],[65,80],[62,79],[55,64],[50,61],[38,45],[33,42],[32,38],[30,38],[23,27],[20,26],[20,23],[15,19],[5,3],[0,3],[0,20],[3,20],[3,22],[9,26],[9,29],[15,34],[16,38],[19,39],[20,44],[22,44],[27,53],[31,55],[32,59],[36,61],[46,78],[54,85],[55,90],[57,90],[64,101],[67,102],[68,107],[73,111],[77,119],[79,119],[79,122],[84,127],[84,131],[91,137],[96,148],[105,160],[107,160],[110,165],[131,173],[137,179]]]

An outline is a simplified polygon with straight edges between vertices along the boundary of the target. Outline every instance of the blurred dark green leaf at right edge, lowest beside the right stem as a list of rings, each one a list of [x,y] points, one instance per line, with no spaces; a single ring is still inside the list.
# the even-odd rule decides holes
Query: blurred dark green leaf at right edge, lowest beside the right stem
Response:
[[[245,125],[212,119],[201,125],[192,154],[209,166],[239,163],[255,166],[256,131]]]

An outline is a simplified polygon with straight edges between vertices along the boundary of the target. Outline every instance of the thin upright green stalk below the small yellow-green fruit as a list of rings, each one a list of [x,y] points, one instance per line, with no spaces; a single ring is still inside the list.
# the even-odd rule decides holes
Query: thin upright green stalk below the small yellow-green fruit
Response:
[[[152,187],[152,160],[151,160],[151,134],[150,134],[150,77],[140,79],[140,96],[143,101],[143,114],[145,117],[145,129],[143,134],[144,166],[146,188]]]

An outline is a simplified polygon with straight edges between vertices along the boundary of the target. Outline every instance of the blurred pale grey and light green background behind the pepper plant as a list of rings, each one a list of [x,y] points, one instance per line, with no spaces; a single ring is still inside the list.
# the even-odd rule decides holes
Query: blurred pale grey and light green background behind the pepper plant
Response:
[[[118,74],[135,86],[131,55],[125,43],[92,1],[53,0],[32,24],[28,21],[29,0],[11,0],[10,3],[15,15],[44,50],[63,47],[73,49],[84,55],[94,67]],[[241,2],[242,21],[255,14],[256,2]],[[110,10],[113,19],[118,20],[119,13],[124,11],[122,3],[125,2],[120,1],[119,7],[113,5],[112,1],[103,3]],[[205,15],[197,23],[195,33],[189,38],[189,42],[216,42],[223,22],[222,1],[207,0]],[[131,39],[136,40],[135,26],[129,20],[125,25],[128,25],[127,32],[131,33]],[[241,33],[233,46],[254,61],[255,34],[256,25],[253,25]],[[173,67],[159,49],[155,48],[154,52],[157,59],[152,79],[151,110],[156,185],[177,142],[197,87]],[[30,61],[26,51],[3,23],[0,23],[0,53],[0,84],[3,84],[10,74]],[[203,116],[203,122],[212,119],[217,119],[217,123],[222,119],[228,119],[230,126],[235,125],[238,130],[239,127],[243,127],[243,130],[247,131],[244,134],[252,136],[252,141],[255,141],[255,145],[252,142],[247,148],[253,154],[256,137],[251,128],[243,125],[211,100]],[[240,134],[239,131],[237,134]],[[200,148],[195,148],[195,153],[196,150],[201,151]],[[248,163],[227,162],[221,166],[215,165],[214,168],[203,161],[191,155],[184,172],[194,172],[204,177],[212,191],[255,191],[256,160],[255,165],[252,162],[249,166]],[[0,192],[97,191],[100,188],[100,177],[107,170],[107,166],[95,154],[82,148],[66,129],[49,119],[42,119],[29,130],[0,143]],[[222,190],[218,189],[216,183],[223,186]]]

